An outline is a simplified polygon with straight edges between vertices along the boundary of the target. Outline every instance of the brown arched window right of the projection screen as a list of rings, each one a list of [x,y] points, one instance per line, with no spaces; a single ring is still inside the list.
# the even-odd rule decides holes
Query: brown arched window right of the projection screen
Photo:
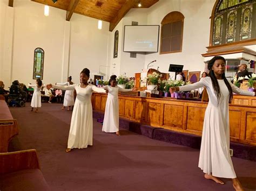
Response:
[[[160,54],[182,51],[184,16],[178,11],[170,12],[161,22]]]

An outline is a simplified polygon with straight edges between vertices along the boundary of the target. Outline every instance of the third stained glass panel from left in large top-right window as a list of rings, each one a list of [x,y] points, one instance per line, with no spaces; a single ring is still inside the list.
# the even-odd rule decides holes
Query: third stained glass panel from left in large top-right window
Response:
[[[240,40],[251,38],[252,28],[252,5],[242,8]]]

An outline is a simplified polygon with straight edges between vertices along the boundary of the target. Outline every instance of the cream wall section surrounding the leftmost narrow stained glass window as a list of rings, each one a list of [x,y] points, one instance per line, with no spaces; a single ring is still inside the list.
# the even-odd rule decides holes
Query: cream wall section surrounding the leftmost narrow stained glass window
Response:
[[[65,11],[50,7],[45,17],[43,4],[15,1],[12,81],[35,83],[33,52],[37,47],[44,49],[43,83],[61,80],[65,16]]]

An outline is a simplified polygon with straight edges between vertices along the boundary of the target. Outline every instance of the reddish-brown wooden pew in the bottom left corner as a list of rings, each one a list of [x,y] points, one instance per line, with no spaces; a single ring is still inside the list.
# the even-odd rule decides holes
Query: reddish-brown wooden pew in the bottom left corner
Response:
[[[50,190],[35,149],[0,153],[0,190]]]

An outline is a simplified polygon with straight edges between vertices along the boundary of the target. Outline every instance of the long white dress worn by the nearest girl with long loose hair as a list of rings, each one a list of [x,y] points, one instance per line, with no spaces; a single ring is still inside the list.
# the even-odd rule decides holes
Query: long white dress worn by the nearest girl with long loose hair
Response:
[[[230,124],[228,117],[229,91],[224,80],[218,80],[220,100],[218,104],[210,77],[197,83],[179,87],[179,91],[190,91],[205,86],[209,102],[205,111],[204,127],[198,167],[204,173],[222,178],[236,178],[230,157]],[[230,83],[235,94],[254,96],[254,92],[244,91]]]

